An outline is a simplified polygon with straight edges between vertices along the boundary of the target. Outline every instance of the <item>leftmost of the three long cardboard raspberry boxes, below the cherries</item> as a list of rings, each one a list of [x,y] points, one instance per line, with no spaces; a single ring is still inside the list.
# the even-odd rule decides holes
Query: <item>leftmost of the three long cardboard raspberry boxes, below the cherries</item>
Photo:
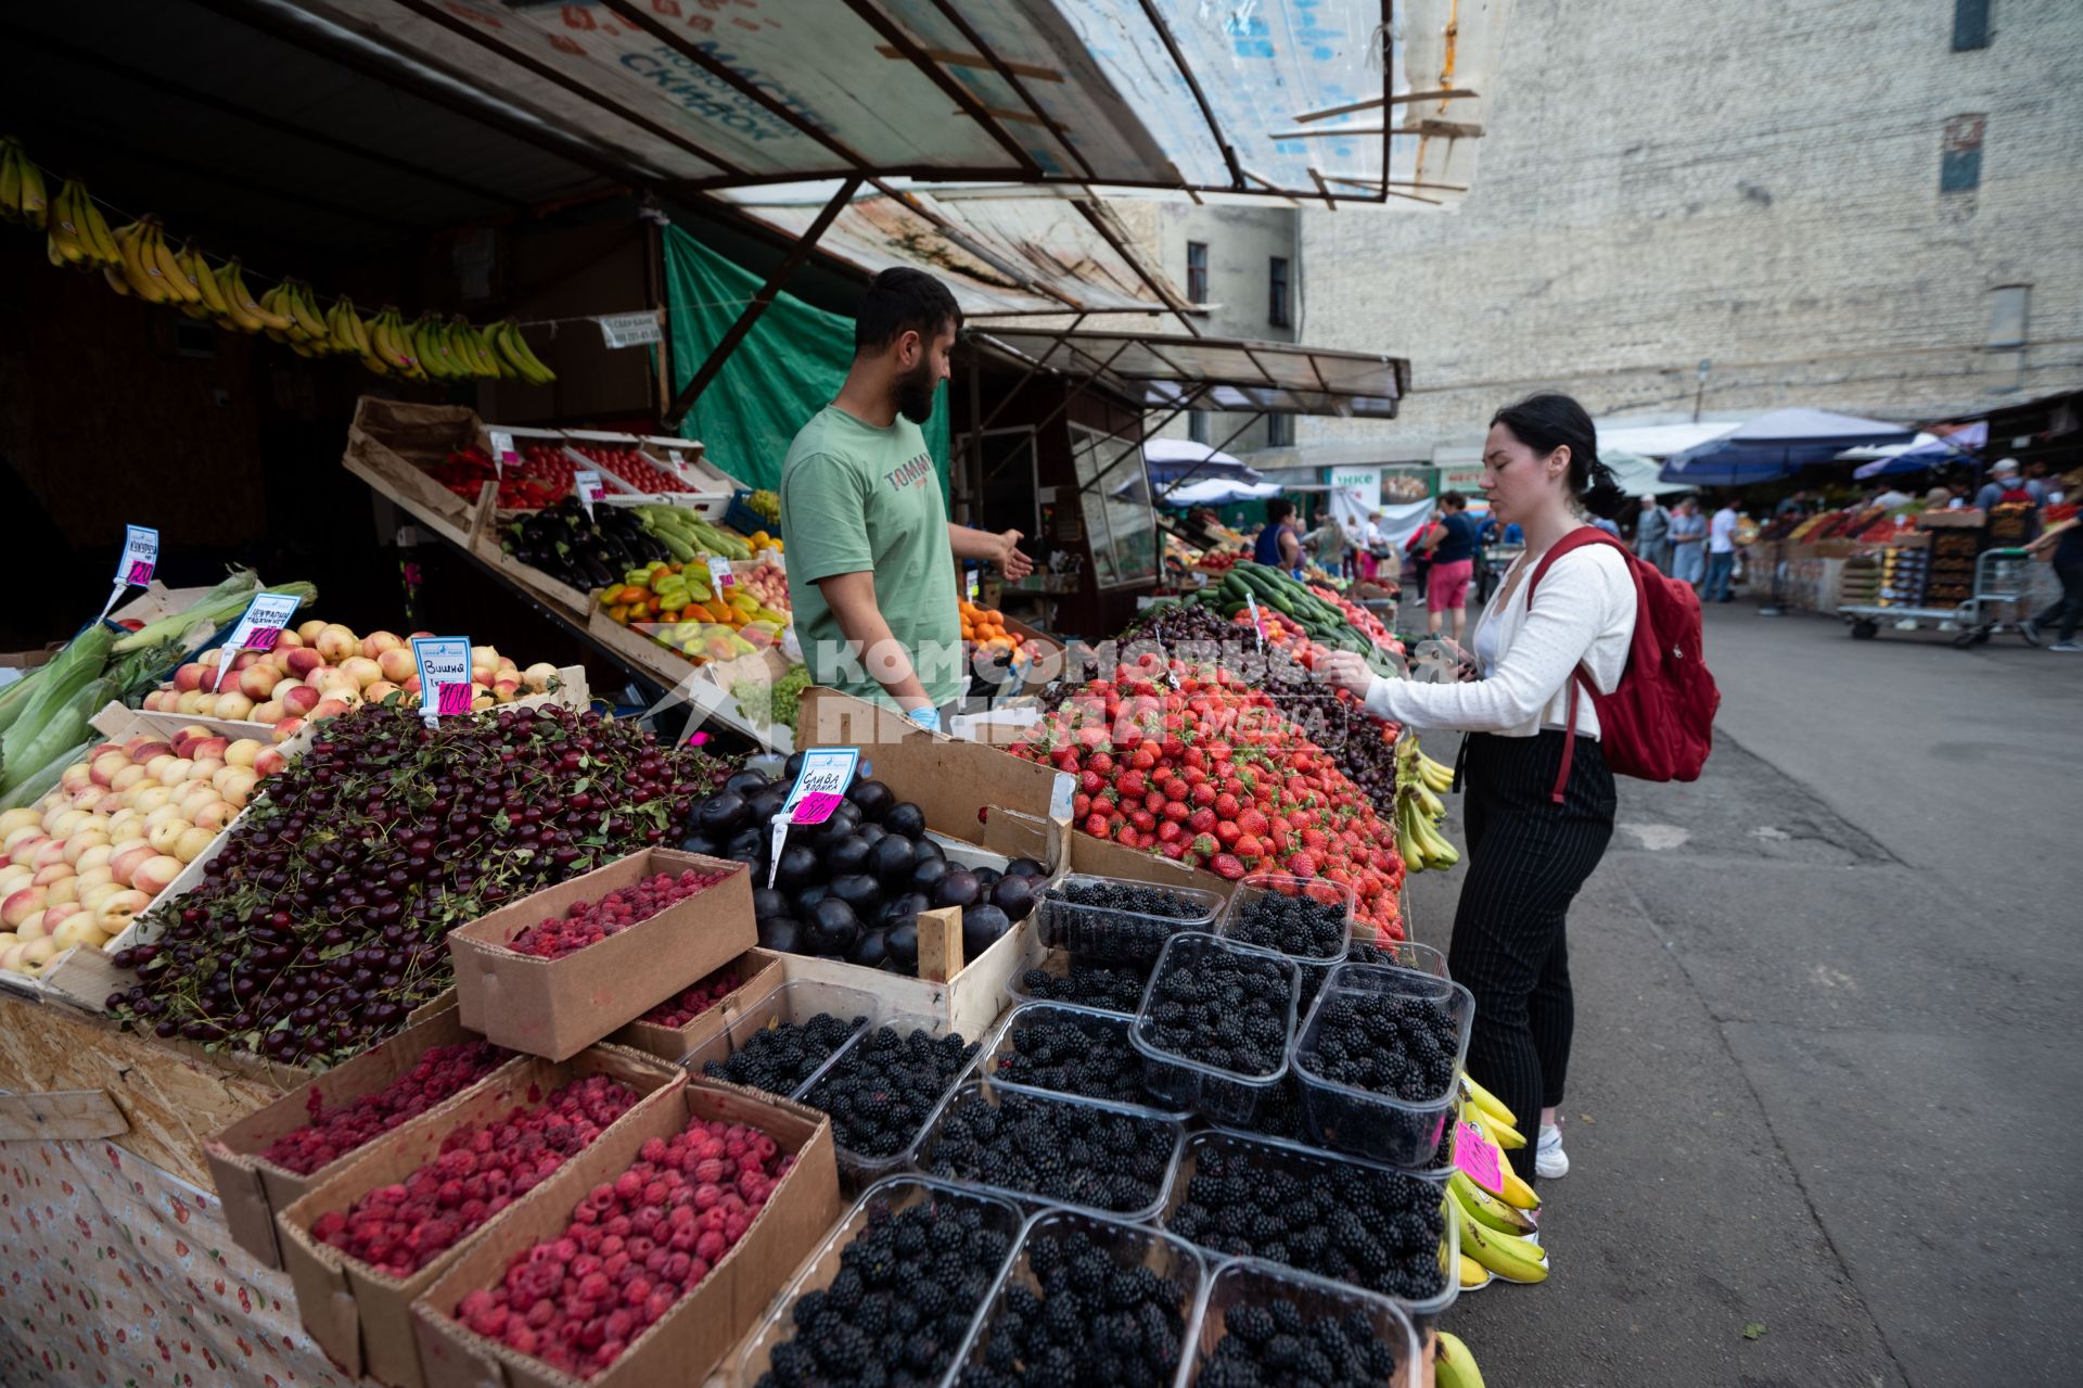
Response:
[[[392,1080],[410,1073],[419,1065],[419,1059],[435,1046],[454,1046],[471,1040],[479,1038],[462,1027],[462,1017],[450,1007],[419,1025],[406,1027],[398,1036],[379,1040],[346,1065],[325,1071],[310,1084],[204,1138],[202,1155],[210,1163],[210,1180],[217,1182],[217,1198],[225,1207],[225,1223],[231,1225],[231,1240],[267,1267],[281,1267],[281,1246],[275,1242],[275,1213],[290,1209],[304,1192],[323,1186],[346,1163],[369,1150],[362,1144],[310,1175],[298,1175],[262,1157],[277,1138],[310,1125],[312,1100],[319,1102],[321,1115],[331,1109],[344,1109],[356,1098],[375,1094],[387,1088]],[[450,1107],[487,1084],[504,1080],[506,1071],[519,1069],[523,1063],[521,1057],[508,1059],[475,1084],[456,1090],[392,1132],[412,1123],[440,1123],[442,1113]]]

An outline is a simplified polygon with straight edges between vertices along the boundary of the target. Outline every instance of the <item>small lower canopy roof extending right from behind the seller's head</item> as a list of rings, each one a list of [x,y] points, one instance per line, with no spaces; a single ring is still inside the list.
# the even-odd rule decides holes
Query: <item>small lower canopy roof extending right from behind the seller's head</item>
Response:
[[[989,327],[971,338],[1050,375],[1096,377],[1141,408],[1175,408],[1200,392],[1196,408],[1396,419],[1410,390],[1410,363],[1400,356],[1294,342],[1046,327]]]

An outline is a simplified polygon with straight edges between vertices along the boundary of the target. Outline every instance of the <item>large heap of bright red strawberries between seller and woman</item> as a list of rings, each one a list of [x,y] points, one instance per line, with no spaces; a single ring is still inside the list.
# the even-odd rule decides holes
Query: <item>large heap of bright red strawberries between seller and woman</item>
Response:
[[[1237,879],[1287,871],[1354,888],[1400,940],[1396,829],[1271,694],[1216,665],[1144,652],[1048,715],[1014,752],[1077,775],[1094,838]]]

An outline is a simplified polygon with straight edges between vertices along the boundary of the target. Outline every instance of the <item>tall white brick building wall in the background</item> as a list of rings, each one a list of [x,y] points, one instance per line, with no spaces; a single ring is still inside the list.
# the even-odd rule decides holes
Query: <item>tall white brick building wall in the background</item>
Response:
[[[2083,2],[1516,4],[1456,215],[1302,215],[1300,338],[1410,356],[1385,456],[1473,442],[1541,386],[1596,415],[1812,404],[1933,419],[2083,381]],[[1985,113],[1977,194],[1939,194]],[[2031,283],[2031,346],[1983,352]],[[2002,388],[2014,388],[2002,394]]]

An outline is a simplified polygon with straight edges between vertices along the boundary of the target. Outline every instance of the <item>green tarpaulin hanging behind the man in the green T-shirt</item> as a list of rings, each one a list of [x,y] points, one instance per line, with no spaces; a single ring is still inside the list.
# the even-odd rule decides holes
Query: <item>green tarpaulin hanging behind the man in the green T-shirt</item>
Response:
[[[708,350],[723,340],[739,311],[760,288],[760,277],[731,265],[679,227],[664,231],[664,283],[671,306],[673,381],[685,386]],[[767,313],[679,431],[698,438],[706,456],[752,488],[781,481],[789,440],[810,415],[831,404],[854,358],[854,321],[825,313],[789,294],[777,294]],[[948,392],[933,400],[925,442],[939,467],[939,494],[948,496]]]

